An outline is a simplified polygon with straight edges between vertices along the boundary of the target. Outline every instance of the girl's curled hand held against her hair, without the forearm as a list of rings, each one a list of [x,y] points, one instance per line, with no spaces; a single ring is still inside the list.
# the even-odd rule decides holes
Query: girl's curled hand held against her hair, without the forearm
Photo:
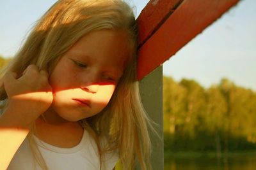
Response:
[[[35,65],[29,65],[20,78],[17,74],[6,73],[4,89],[9,99],[8,113],[20,125],[31,125],[52,103],[52,89],[48,82],[48,73],[38,71]],[[14,121],[14,120],[13,120]]]

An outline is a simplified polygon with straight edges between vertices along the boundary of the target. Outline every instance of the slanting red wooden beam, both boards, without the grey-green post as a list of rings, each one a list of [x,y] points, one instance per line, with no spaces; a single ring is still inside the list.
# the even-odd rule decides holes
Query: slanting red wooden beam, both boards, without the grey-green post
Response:
[[[172,57],[238,1],[184,0],[181,4],[179,4],[181,1],[172,1],[174,7],[179,4],[178,8],[172,11],[173,4],[168,3],[170,0],[151,0],[138,17],[141,34],[139,38],[141,46],[138,51],[138,80]],[[166,6],[163,7],[161,4]],[[152,15],[156,16],[148,15],[150,14],[148,9],[152,10]],[[147,23],[147,17],[153,19],[148,19]],[[152,20],[152,26],[150,26],[150,20]]]

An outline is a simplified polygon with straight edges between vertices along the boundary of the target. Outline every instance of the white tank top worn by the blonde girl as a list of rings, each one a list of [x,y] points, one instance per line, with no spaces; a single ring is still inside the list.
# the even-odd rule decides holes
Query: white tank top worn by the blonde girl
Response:
[[[100,160],[97,145],[90,134],[84,130],[80,143],[73,148],[58,148],[49,145],[35,137],[42,157],[44,157],[48,170],[88,169],[99,170]],[[118,153],[105,153],[102,160],[102,169],[112,170],[118,160]],[[28,139],[26,138],[19,150],[15,153],[8,170],[39,170],[40,166],[33,159]]]

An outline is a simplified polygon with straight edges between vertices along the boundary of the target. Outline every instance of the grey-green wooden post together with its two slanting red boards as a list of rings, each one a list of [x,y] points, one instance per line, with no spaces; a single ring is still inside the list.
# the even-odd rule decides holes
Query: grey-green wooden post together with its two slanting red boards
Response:
[[[239,0],[151,0],[138,17],[138,80],[141,100],[158,124],[162,138],[152,138],[152,167],[164,169],[163,69],[161,64],[220,18]],[[159,67],[160,66],[160,67]]]

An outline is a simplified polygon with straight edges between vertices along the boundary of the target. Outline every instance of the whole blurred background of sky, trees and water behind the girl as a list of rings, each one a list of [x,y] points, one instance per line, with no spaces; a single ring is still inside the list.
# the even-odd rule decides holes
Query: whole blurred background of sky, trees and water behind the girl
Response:
[[[0,67],[54,2],[0,2]],[[129,3],[138,17],[148,0]],[[163,64],[164,169],[255,169],[255,7],[241,0]]]

